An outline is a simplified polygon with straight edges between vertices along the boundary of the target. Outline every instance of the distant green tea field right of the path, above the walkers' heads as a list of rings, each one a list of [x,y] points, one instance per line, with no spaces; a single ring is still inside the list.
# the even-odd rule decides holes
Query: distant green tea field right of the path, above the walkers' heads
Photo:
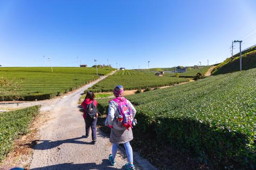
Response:
[[[117,85],[122,85],[126,90],[132,89],[145,89],[147,87],[161,87],[170,86],[176,83],[187,82],[186,78],[176,77],[158,77],[153,73],[140,73],[136,71],[119,71],[114,75],[107,77],[106,79],[95,84],[90,90],[94,92],[108,92],[112,91]]]

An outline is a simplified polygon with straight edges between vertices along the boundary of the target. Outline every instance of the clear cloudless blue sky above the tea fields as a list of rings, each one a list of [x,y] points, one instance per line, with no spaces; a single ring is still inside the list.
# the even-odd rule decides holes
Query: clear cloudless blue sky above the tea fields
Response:
[[[255,9],[256,0],[0,0],[0,65],[45,66],[43,55],[53,66],[214,64],[232,40],[256,44]]]

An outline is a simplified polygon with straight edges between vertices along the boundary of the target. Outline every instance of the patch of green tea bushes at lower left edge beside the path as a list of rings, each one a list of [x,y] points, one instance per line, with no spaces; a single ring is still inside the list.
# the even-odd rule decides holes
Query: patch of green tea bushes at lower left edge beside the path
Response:
[[[26,135],[31,121],[39,113],[40,106],[0,113],[0,161],[12,149],[14,140]]]

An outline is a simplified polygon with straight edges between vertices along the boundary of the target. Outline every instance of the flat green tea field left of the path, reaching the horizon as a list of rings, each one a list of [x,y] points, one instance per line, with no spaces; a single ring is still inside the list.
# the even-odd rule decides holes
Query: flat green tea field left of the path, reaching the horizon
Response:
[[[98,68],[98,74],[110,73]],[[77,89],[99,78],[96,68],[79,67],[1,67],[0,78],[13,80],[19,85],[17,93],[24,100],[49,99]],[[7,95],[8,100],[12,94]]]

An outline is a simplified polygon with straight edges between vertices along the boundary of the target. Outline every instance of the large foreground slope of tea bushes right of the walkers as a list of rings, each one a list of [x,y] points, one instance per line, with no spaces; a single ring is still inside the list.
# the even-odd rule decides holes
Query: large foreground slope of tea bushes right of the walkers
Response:
[[[194,154],[216,169],[253,170],[255,79],[256,69],[251,69],[128,96],[137,109],[135,130]],[[98,99],[101,113],[106,113],[109,100]]]

